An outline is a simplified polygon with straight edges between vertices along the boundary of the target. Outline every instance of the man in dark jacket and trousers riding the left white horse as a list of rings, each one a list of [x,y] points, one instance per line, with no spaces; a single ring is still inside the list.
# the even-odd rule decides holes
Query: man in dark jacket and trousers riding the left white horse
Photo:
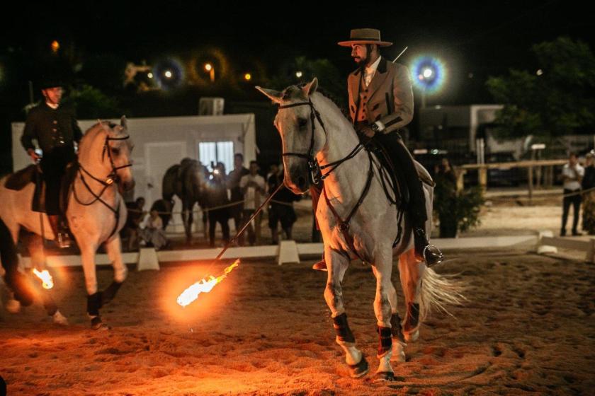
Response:
[[[67,248],[70,245],[68,233],[64,231],[60,211],[60,185],[69,163],[77,158],[74,142],[83,136],[74,111],[60,106],[62,82],[45,79],[41,84],[44,100],[33,107],[27,115],[21,144],[33,162],[39,162],[45,182],[45,211],[56,235],[57,245]],[[35,152],[35,140],[42,156]]]

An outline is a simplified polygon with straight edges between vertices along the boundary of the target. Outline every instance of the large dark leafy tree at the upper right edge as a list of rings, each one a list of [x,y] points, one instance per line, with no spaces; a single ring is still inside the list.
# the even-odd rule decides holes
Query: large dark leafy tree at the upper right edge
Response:
[[[595,132],[595,56],[587,43],[569,37],[533,45],[538,72],[511,69],[489,77],[487,88],[504,108],[497,134],[555,138]]]

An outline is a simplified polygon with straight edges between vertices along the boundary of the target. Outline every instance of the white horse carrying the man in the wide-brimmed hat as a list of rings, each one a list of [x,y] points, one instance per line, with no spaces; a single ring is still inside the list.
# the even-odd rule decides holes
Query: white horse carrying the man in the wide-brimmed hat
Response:
[[[368,373],[368,363],[348,326],[341,290],[349,262],[358,257],[372,264],[376,277],[374,311],[380,335],[376,377],[392,380],[391,357],[404,361],[404,342],[419,336],[419,324],[432,305],[442,307],[445,303],[460,302],[459,286],[415,260],[407,216],[399,218],[402,233],[393,248],[399,224],[397,207],[390,204],[382,186],[384,171],[378,160],[363,149],[339,108],[316,92],[316,78],[303,88],[290,86],[283,92],[256,88],[279,105],[275,125],[283,141],[285,185],[294,193],[303,194],[310,187],[310,175],[317,164],[323,170],[324,187],[316,217],[328,267],[324,298],[331,310],[336,342],[346,353],[351,376]],[[416,167],[421,179],[426,180],[426,232],[430,235],[433,182],[419,163]],[[397,313],[397,293],[390,279],[394,256],[399,257],[407,306],[403,322]]]

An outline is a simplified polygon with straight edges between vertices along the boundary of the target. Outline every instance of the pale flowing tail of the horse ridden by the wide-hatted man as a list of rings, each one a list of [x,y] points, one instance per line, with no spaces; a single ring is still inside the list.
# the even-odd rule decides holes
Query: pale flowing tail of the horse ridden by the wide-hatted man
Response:
[[[455,279],[455,275],[436,274],[433,269],[424,269],[421,275],[419,292],[419,320],[425,320],[432,310],[441,310],[448,315],[448,305],[462,305],[467,300],[463,296],[465,288]]]

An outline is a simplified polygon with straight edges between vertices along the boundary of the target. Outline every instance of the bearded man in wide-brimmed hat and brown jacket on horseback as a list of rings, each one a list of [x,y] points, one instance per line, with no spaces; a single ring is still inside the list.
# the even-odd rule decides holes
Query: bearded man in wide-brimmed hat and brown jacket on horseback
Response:
[[[409,70],[407,66],[380,56],[380,47],[392,45],[392,42],[380,40],[380,30],[353,29],[351,38],[339,42],[339,45],[351,47],[351,57],[358,64],[358,69],[347,79],[351,121],[361,138],[374,138],[387,151],[392,168],[407,184],[416,259],[425,261],[428,267],[438,264],[442,262],[443,255],[436,248],[430,248],[426,237],[424,224],[428,217],[421,180],[413,158],[397,132],[413,118]],[[313,268],[326,270],[324,258]]]

